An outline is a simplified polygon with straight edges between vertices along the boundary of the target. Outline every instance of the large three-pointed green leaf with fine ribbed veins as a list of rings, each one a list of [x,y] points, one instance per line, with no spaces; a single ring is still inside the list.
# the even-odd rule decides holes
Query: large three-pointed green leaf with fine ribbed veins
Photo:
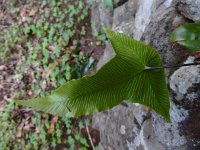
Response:
[[[95,75],[71,80],[46,98],[16,103],[60,116],[110,109],[124,100],[144,104],[170,121],[169,94],[159,54],[147,45],[105,29],[116,56]]]

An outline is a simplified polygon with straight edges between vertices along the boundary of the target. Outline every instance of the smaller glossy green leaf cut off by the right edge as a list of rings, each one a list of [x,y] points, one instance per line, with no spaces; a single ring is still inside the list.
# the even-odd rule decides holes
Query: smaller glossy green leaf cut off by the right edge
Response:
[[[189,52],[200,51],[200,23],[189,23],[175,29],[171,41],[188,48]]]

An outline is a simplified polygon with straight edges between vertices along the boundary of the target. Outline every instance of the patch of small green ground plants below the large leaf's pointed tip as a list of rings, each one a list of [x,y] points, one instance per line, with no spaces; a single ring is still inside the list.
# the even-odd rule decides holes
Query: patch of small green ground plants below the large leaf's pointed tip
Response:
[[[4,104],[4,109],[0,111],[1,149],[56,149],[56,146],[61,143],[68,143],[71,149],[74,149],[75,144],[88,149],[88,141],[81,135],[81,129],[86,127],[83,122],[87,120],[80,121],[79,125],[74,126],[71,119],[67,117],[51,118],[36,111],[31,114],[24,112],[24,115],[29,115],[29,118],[19,119],[15,116],[15,119],[11,119],[16,113],[15,109],[18,108],[12,102],[7,102]],[[63,133],[63,129],[67,129],[67,132]],[[67,139],[63,139],[62,136]]]

